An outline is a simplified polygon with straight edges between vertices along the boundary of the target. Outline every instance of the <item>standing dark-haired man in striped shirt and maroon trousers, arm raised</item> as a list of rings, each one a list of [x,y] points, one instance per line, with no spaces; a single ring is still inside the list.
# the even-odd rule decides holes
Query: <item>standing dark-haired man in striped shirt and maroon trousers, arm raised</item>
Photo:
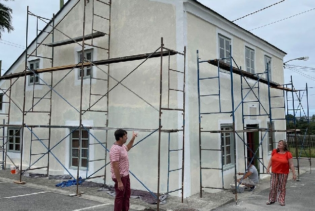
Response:
[[[115,182],[116,198],[114,211],[128,211],[130,190],[128,151],[138,133],[132,131],[132,138],[127,145],[127,131],[117,129],[114,133],[116,142],[109,151],[111,178]]]

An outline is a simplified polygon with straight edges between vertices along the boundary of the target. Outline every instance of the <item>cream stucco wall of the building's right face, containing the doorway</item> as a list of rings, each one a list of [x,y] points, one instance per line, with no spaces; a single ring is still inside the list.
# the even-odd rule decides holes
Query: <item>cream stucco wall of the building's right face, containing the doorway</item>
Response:
[[[202,8],[198,4],[185,3],[185,8],[187,11],[187,60],[188,69],[194,70],[189,71],[187,76],[186,87],[191,93],[197,93],[197,59],[196,59],[196,49],[199,50],[199,57],[201,61],[219,58],[218,55],[218,34],[223,35],[231,39],[232,45],[232,56],[239,67],[245,69],[245,46],[249,46],[255,49],[255,67],[256,73],[262,73],[264,69],[264,55],[268,55],[272,59],[272,81],[282,84],[283,83],[283,56],[284,54],[278,49],[272,46],[266,46],[265,43],[259,42],[257,38],[249,35],[242,30],[239,30],[234,25],[228,21],[221,19],[216,14],[209,14],[209,12]],[[233,64],[236,67],[236,65]],[[230,74],[220,72],[220,101],[221,101],[221,111],[229,112],[231,108],[231,80]],[[200,78],[215,77],[218,76],[217,67],[212,66],[207,63],[200,63]],[[256,82],[247,79],[250,86],[253,86]],[[244,88],[248,87],[245,80],[243,79]],[[203,80],[200,81],[201,94],[217,94],[219,87],[216,79]],[[257,87],[257,84],[256,84]],[[255,89],[254,89],[255,90]],[[240,76],[233,75],[233,97],[234,106],[237,110],[235,111],[235,125],[236,130],[243,129],[242,123],[242,101],[241,98],[241,86],[240,86]],[[243,90],[243,95],[248,92],[248,89]],[[261,107],[261,114],[266,114],[263,108],[269,113],[268,105],[268,89],[266,84],[260,84],[260,94],[258,94],[257,89],[255,90],[256,96],[260,97],[261,105],[258,102],[253,102],[254,107],[257,107],[259,111],[259,106]],[[271,96],[283,95],[281,90],[270,89]],[[243,96],[243,97],[244,97]],[[190,105],[198,105],[198,98],[196,95],[188,95]],[[255,95],[250,92],[245,98],[246,101],[257,101]],[[283,105],[284,98],[272,99],[271,107],[280,107]],[[244,103],[244,115],[249,115],[249,108],[253,105],[250,103]],[[218,96],[202,97],[201,98],[201,112],[219,112],[219,100]],[[272,110],[272,119],[284,118],[285,111],[282,108]],[[189,110],[189,120],[190,120],[190,131],[198,131],[198,109],[191,108]],[[257,117],[256,120],[251,120],[250,117],[245,117],[244,126],[248,124],[258,124],[260,128],[266,128],[269,118],[265,116]],[[195,123],[195,124],[192,124]],[[220,130],[221,124],[232,124],[232,118],[230,114],[213,114],[213,115],[202,115],[201,127],[203,130]],[[275,121],[275,129],[285,129],[285,123],[283,120]],[[285,138],[285,132],[276,132],[275,140],[280,140]],[[239,134],[245,143],[247,143],[246,135],[243,137],[243,133]],[[264,132],[260,133],[260,140]],[[262,140],[262,146],[260,147],[260,157],[263,156],[263,163],[266,166],[270,158],[267,150],[267,136]],[[199,135],[197,132],[190,133],[190,140],[192,141],[190,146],[191,151],[191,194],[199,192],[199,186],[196,185],[200,181],[199,174]],[[236,137],[236,158],[237,158],[237,172],[244,171],[244,142],[241,138]],[[203,149],[220,149],[220,134],[206,134],[202,133],[202,148]],[[264,154],[262,155],[262,149]],[[221,168],[221,157],[218,151],[203,151],[202,153],[202,167],[208,168]],[[262,169],[262,164],[260,169]],[[202,182],[203,186],[208,187],[222,187],[222,176],[221,170],[202,170]],[[230,182],[233,180],[234,169],[223,171],[224,187],[229,188]],[[261,175],[263,177],[263,174]],[[187,188],[186,188],[187,189]],[[205,191],[213,192],[213,189],[204,189]]]

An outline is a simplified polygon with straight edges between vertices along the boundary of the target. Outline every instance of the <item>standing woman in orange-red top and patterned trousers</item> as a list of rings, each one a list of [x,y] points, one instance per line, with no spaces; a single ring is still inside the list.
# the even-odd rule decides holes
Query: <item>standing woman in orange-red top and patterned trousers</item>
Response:
[[[270,192],[267,205],[274,204],[277,201],[278,196],[278,202],[281,206],[285,206],[285,185],[287,183],[289,169],[292,171],[293,179],[296,180],[293,157],[288,151],[288,145],[285,141],[280,140],[278,142],[278,148],[272,150],[271,158],[267,167],[267,173],[269,173],[270,167]]]

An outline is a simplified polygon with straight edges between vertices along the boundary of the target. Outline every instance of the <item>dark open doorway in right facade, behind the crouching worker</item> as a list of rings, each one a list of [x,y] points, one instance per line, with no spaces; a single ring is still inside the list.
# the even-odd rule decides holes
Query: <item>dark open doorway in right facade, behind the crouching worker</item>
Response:
[[[259,125],[246,125],[247,129],[258,129]],[[254,158],[254,162],[255,162],[255,167],[258,171],[258,173],[260,173],[260,162],[257,158],[260,158],[260,152],[259,152],[259,131],[253,131],[253,132],[247,132],[246,133],[246,137],[247,137],[247,158]],[[258,149],[258,150],[257,150]],[[256,152],[257,150],[257,152]],[[254,156],[254,153],[256,152],[256,157]]]

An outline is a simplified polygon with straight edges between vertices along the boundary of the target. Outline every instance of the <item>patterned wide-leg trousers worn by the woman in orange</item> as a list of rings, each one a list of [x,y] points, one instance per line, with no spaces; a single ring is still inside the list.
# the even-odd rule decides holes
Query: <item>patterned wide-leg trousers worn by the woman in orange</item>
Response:
[[[278,198],[279,203],[284,203],[285,185],[288,180],[287,173],[271,173],[269,201],[276,202]]]

